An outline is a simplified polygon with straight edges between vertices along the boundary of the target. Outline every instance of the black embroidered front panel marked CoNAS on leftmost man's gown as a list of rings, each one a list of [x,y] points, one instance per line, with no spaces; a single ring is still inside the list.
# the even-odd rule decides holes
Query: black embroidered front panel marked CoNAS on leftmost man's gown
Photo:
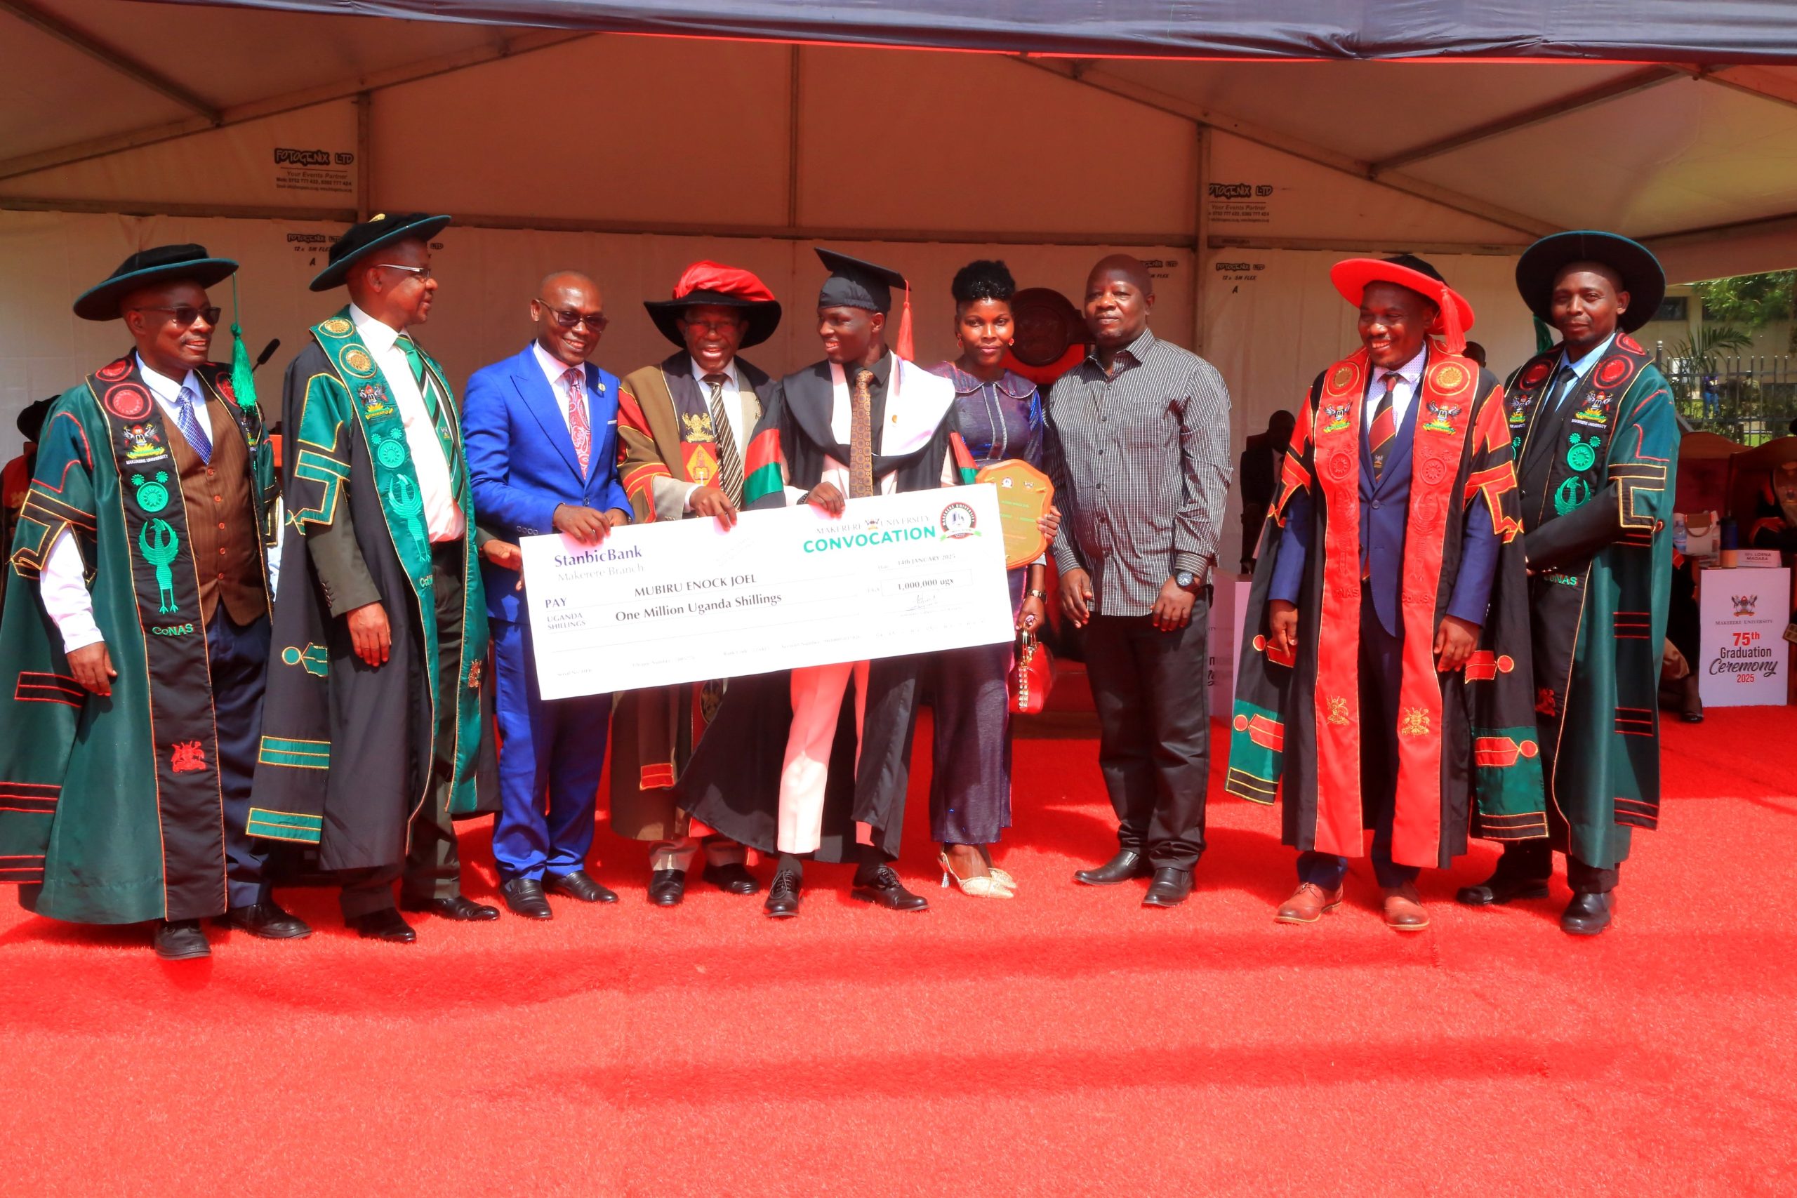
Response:
[[[226,404],[232,402],[226,368],[207,365],[196,374]],[[106,413],[108,440],[119,465],[124,551],[144,629],[167,918],[217,914],[225,903],[217,727],[180,467],[169,449],[162,408],[144,383],[135,354],[102,366],[86,384]],[[201,418],[203,413],[201,408]],[[117,657],[113,665],[129,668]]]

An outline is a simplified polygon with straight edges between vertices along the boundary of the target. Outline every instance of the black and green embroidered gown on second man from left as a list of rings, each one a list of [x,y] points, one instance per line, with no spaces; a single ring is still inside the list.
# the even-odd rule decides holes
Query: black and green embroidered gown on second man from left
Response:
[[[255,805],[266,821],[289,824],[286,839],[316,842],[323,869],[381,868],[404,857],[412,815],[440,801],[431,794],[438,697],[458,711],[449,810],[476,810],[485,593],[455,397],[426,356],[428,383],[447,404],[438,438],[467,519],[460,670],[438,686],[431,546],[399,404],[347,309],[311,336],[286,379],[288,528]],[[356,656],[343,618],[363,596],[332,595],[323,582],[341,578],[352,555],[392,629],[392,657],[379,668]]]

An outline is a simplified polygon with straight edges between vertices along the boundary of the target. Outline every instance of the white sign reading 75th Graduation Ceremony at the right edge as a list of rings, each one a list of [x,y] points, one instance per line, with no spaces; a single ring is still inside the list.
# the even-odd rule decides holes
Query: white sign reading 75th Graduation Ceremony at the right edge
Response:
[[[1704,571],[1698,693],[1705,708],[1784,704],[1790,593],[1790,569]]]

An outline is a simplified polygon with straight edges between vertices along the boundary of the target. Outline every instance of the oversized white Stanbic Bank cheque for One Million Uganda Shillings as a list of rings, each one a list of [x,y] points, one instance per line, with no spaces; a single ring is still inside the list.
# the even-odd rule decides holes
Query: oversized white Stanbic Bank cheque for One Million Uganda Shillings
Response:
[[[897,657],[1014,636],[988,483],[715,519],[602,544],[525,537],[544,699]]]

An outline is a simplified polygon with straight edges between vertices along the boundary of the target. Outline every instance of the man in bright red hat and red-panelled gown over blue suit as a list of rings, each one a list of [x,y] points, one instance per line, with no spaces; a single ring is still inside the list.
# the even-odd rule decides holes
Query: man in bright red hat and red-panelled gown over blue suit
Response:
[[[1385,921],[1414,932],[1429,925],[1418,868],[1465,851],[1472,744],[1454,674],[1479,647],[1509,541],[1492,496],[1515,480],[1497,381],[1459,356],[1472,307],[1409,255],[1342,262],[1333,280],[1360,309],[1362,350],[1312,386],[1267,584],[1267,656],[1296,663],[1319,713],[1315,745],[1285,745],[1315,762],[1285,780],[1303,851],[1276,918],[1312,923],[1341,903],[1364,823]],[[1324,641],[1303,659],[1301,611]],[[1418,639],[1427,654],[1405,650]],[[1357,745],[1337,738],[1351,724]]]

